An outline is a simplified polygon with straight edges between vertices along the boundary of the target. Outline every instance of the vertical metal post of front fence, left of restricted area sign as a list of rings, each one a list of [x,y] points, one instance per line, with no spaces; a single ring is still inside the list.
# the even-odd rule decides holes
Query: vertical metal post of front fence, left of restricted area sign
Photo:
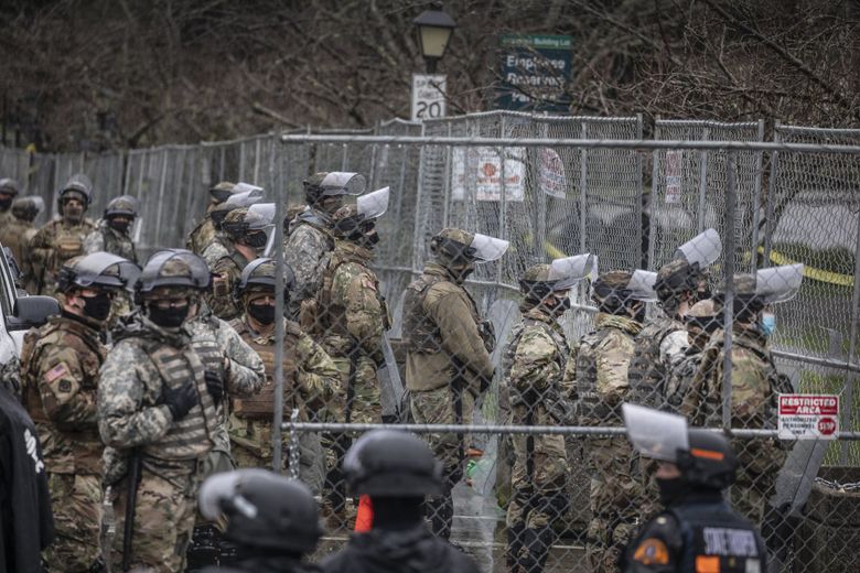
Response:
[[[722,426],[732,426],[732,336],[734,323],[734,217],[738,206],[738,152],[729,151],[725,186],[725,295],[723,302]]]

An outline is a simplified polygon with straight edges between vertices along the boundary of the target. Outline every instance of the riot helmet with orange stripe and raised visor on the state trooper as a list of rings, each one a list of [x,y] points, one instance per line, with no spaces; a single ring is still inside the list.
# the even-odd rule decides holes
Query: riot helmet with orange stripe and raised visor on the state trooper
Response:
[[[681,415],[641,406],[625,403],[622,411],[633,447],[644,457],[678,466],[682,485],[719,490],[734,483],[738,458],[724,435],[688,429]]]

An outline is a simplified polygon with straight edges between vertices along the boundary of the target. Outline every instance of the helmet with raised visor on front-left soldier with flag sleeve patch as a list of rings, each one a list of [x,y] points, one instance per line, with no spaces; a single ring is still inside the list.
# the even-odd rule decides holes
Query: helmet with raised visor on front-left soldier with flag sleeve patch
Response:
[[[140,268],[128,259],[109,252],[73,257],[57,274],[57,289],[128,289],[140,275]]]

